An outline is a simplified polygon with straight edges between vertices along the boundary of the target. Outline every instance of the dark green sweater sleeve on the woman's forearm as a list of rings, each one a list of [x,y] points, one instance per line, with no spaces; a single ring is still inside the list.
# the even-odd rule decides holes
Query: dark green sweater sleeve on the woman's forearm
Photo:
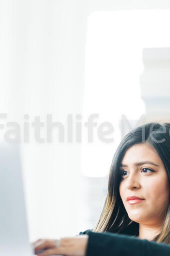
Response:
[[[110,232],[92,232],[89,235],[86,256],[170,256],[170,245],[140,239],[131,235]]]

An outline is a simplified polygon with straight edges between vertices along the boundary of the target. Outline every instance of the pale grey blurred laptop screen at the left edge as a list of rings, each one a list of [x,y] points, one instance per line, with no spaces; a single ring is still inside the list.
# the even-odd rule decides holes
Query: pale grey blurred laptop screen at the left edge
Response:
[[[32,256],[28,238],[20,148],[0,139],[0,255]]]

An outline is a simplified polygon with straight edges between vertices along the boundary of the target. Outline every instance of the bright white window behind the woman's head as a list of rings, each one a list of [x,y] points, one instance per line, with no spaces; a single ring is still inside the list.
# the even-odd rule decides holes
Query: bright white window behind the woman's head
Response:
[[[170,10],[100,11],[89,16],[86,41],[84,118],[98,113],[98,124],[113,124],[114,141],[103,143],[84,134],[82,173],[105,176],[121,140],[119,121],[139,120],[145,114],[140,75],[143,48],[170,47]],[[97,134],[97,127],[94,127]]]

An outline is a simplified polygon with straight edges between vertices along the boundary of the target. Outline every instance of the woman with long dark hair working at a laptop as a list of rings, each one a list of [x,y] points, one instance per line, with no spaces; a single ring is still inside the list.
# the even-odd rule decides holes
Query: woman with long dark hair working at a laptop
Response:
[[[46,250],[36,254],[170,256],[170,123],[147,123],[124,137],[99,221],[80,234],[39,239],[35,251]]]

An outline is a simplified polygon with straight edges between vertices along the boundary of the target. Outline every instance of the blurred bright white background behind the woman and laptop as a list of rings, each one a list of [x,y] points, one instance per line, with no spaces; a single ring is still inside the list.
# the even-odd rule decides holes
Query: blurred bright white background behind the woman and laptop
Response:
[[[155,85],[141,92],[151,73],[144,48],[167,47],[169,54],[169,8],[166,0],[0,0],[0,113],[7,113],[0,123],[20,125],[30,240],[75,235],[96,224],[121,140],[121,116],[138,121],[147,112],[145,95],[154,98]],[[161,68],[155,60],[152,75]],[[113,142],[99,140],[98,126],[93,142],[87,141],[84,122],[93,113],[99,114],[98,125],[113,124]],[[29,142],[23,142],[24,114]],[[31,122],[35,116],[46,122],[47,114],[64,124],[64,142],[57,128],[52,142],[36,142]],[[81,142],[76,142],[77,114]]]

